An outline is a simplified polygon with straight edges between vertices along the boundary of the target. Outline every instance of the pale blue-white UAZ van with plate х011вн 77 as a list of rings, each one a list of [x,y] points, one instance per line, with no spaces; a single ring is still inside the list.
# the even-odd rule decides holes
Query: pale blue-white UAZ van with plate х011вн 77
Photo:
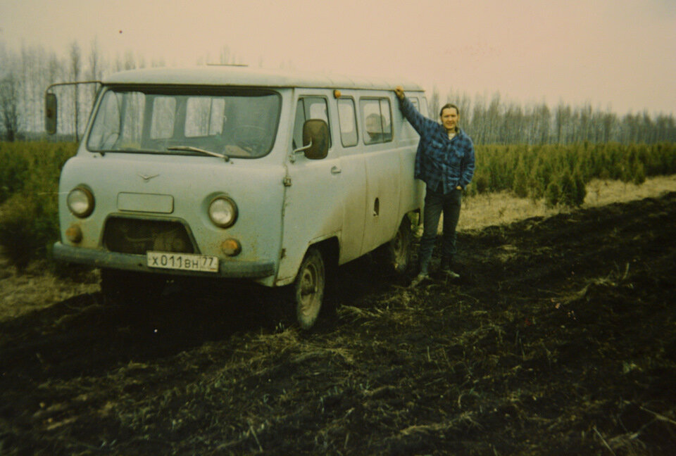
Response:
[[[327,267],[384,246],[406,270],[423,184],[401,81],[208,66],[101,84],[61,172],[54,258],[100,267],[104,293],[129,298],[176,274],[294,284],[307,329]],[[423,89],[403,87],[426,113]],[[49,89],[46,116],[55,132]]]

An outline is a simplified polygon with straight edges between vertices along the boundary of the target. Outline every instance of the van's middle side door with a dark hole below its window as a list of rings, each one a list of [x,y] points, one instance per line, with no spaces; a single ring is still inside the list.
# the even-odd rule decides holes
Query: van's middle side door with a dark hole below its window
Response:
[[[366,213],[362,253],[392,239],[399,227],[401,163],[393,141],[392,107],[387,98],[362,98],[364,125]]]

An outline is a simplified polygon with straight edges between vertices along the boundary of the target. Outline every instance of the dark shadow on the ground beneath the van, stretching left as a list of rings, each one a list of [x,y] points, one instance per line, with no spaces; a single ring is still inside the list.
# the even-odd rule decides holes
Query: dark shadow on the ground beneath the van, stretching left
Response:
[[[368,258],[356,260],[334,271],[327,303],[351,304],[388,280]],[[169,284],[139,303],[113,303],[100,292],[73,296],[0,322],[0,372],[32,381],[96,376],[235,334],[273,333],[295,324],[290,295],[290,287],[204,280]],[[325,323],[323,332],[339,324]]]

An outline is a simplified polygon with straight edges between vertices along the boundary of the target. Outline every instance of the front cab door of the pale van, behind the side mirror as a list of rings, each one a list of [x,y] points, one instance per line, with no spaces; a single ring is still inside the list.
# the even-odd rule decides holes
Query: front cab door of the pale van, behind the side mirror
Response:
[[[282,260],[277,284],[288,284],[296,276],[308,246],[338,236],[343,217],[339,156],[329,118],[328,97],[323,90],[303,90],[296,102],[296,115],[289,155],[303,146],[303,124],[309,119],[327,122],[330,144],[327,156],[310,160],[296,153],[287,163],[283,210]]]

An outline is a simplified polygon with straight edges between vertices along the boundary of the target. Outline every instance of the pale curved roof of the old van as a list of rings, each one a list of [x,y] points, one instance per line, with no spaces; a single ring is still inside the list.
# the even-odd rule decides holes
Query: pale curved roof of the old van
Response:
[[[196,68],[147,68],[114,73],[104,84],[230,85],[246,87],[318,87],[330,89],[385,89],[401,85],[409,91],[423,88],[394,78],[348,77],[324,73],[263,70],[259,68],[208,65]]]

